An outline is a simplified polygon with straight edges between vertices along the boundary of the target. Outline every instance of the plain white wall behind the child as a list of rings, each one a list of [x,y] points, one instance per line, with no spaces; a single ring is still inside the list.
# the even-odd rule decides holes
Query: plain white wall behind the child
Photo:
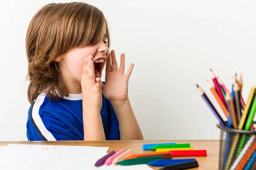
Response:
[[[0,141],[27,140],[26,31],[36,11],[52,2],[72,1],[0,5]],[[144,139],[218,139],[217,120],[195,84],[213,100],[206,84],[209,68],[229,88],[237,71],[243,74],[247,100],[256,78],[256,1],[84,2],[105,14],[111,49],[126,54],[127,66],[135,64],[129,97]]]

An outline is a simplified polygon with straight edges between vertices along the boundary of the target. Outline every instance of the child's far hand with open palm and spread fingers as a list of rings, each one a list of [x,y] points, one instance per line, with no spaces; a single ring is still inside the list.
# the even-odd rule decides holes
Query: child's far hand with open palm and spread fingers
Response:
[[[131,63],[127,73],[124,74],[125,54],[122,53],[118,70],[115,51],[111,50],[111,54],[109,54],[106,61],[106,77],[105,85],[102,85],[102,93],[112,105],[113,103],[116,104],[128,101],[128,80],[133,68],[134,64]]]

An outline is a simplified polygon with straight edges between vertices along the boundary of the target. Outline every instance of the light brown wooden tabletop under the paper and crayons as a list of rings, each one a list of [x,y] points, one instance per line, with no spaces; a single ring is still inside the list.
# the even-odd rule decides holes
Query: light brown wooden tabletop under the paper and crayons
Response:
[[[149,143],[190,143],[190,146],[195,149],[207,150],[207,156],[193,156],[193,157],[175,157],[175,158],[195,158],[198,161],[199,167],[193,168],[193,170],[218,170],[218,157],[219,157],[219,140],[131,140],[131,141],[36,141],[36,142],[0,142],[0,146],[6,146],[8,144],[49,144],[49,145],[81,145],[81,146],[99,146],[109,147],[108,152],[111,150],[132,149],[134,153],[148,153],[151,150],[142,150],[143,144]],[[160,167],[153,167],[154,170],[160,169]]]

